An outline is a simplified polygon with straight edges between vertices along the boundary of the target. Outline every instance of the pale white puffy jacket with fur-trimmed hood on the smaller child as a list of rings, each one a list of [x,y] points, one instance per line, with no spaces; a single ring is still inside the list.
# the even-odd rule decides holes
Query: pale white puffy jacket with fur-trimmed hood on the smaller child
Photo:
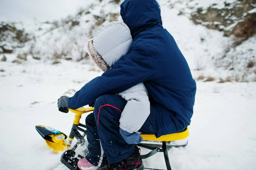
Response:
[[[88,40],[87,51],[94,63],[102,71],[107,71],[128,52],[131,43],[132,36],[128,26],[116,21],[104,26],[93,39]],[[117,95],[127,101],[119,120],[119,127],[128,133],[137,132],[150,113],[147,89],[140,83]]]

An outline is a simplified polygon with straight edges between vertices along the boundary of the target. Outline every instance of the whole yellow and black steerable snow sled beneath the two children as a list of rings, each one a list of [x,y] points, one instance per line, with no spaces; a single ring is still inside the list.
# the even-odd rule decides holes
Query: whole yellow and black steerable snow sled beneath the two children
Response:
[[[36,126],[36,130],[45,139],[45,141],[47,141],[47,146],[49,148],[52,148],[55,152],[58,152],[58,150],[69,149],[69,150],[66,150],[61,155],[61,162],[70,170],[79,170],[79,168],[77,167],[77,162],[84,157],[77,154],[75,150],[79,144],[81,145],[84,144],[85,142],[84,137],[86,135],[86,126],[84,124],[80,124],[79,121],[81,119],[82,114],[87,112],[92,112],[94,108],[81,107],[76,110],[73,110],[73,109],[69,109],[69,110],[71,112],[76,113],[76,115],[73,121],[73,126],[71,129],[70,135],[68,136],[67,144],[64,142],[64,139],[67,138],[67,135],[65,135],[64,133],[61,133],[58,130],[55,130],[50,127],[44,127],[44,126]],[[83,134],[81,134],[79,131]],[[181,145],[177,145],[177,144],[174,145],[173,141],[187,138],[189,136],[189,129],[186,128],[183,132],[180,132],[180,133],[163,135],[160,138],[156,138],[155,135],[148,135],[148,134],[140,134],[140,135],[143,138],[143,142],[140,144],[137,144],[137,146],[144,147],[146,149],[151,150],[149,153],[145,155],[141,155],[141,158],[145,159],[155,155],[158,152],[163,152],[167,170],[172,170],[167,149],[171,147],[186,147],[186,145],[188,144],[188,141],[186,141],[185,144],[181,144]],[[71,148],[71,144],[74,138],[77,139],[77,142]],[[49,145],[49,142],[51,142],[50,144],[52,143],[53,144]],[[57,146],[55,146],[54,144],[56,144]],[[160,170],[160,169],[144,168],[144,170]]]

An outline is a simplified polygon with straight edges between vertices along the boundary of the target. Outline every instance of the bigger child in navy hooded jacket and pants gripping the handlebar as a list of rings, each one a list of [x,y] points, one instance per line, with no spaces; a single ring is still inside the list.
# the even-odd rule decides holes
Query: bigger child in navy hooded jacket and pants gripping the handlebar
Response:
[[[86,159],[95,168],[100,167],[102,148],[110,163],[106,169],[142,170],[138,148],[119,133],[119,119],[127,101],[115,94],[143,82],[149,94],[150,114],[139,132],[160,137],[181,132],[190,124],[196,84],[174,38],[162,26],[156,0],[125,0],[120,14],[133,38],[127,54],[73,97],[61,97],[58,108],[67,112],[68,108],[95,102],[94,113],[86,118],[87,135],[91,136]]]

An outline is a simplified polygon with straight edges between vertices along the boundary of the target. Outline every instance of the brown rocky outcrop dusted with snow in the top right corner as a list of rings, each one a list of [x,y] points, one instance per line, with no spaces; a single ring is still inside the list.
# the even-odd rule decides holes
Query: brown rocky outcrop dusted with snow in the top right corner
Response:
[[[191,14],[195,24],[247,39],[256,33],[256,0],[238,0],[224,3],[224,8],[212,4],[207,9],[198,8]]]

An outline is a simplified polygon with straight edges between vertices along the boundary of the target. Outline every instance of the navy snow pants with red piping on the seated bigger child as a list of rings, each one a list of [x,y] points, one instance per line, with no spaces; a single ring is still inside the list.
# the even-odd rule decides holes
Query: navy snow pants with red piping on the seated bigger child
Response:
[[[94,112],[87,115],[85,124],[87,126],[88,151],[87,161],[91,164],[100,166],[103,158],[106,156],[110,163],[117,163],[131,155],[134,151],[134,144],[127,144],[119,133],[119,119],[127,101],[118,95],[103,95],[99,97],[94,104]],[[157,119],[162,117],[159,109],[151,106],[151,113],[139,130],[144,134],[155,134],[159,136]],[[169,112],[169,111],[168,111]],[[171,115],[169,112],[168,114]],[[173,119],[173,118],[172,118]],[[177,120],[167,121],[172,127],[175,127]],[[173,128],[168,128],[172,132]],[[183,128],[185,129],[185,128]],[[104,151],[104,152],[103,152]],[[104,155],[104,156],[103,156]]]

